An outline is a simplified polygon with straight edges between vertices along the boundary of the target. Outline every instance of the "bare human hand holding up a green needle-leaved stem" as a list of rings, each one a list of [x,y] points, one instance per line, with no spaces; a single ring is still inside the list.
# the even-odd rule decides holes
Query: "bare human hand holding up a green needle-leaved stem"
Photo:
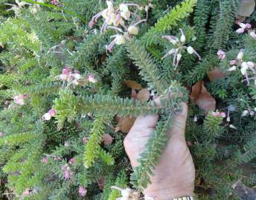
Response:
[[[159,98],[155,100],[160,104]],[[195,168],[185,141],[185,125],[188,106],[181,104],[182,112],[173,119],[171,130],[167,131],[169,141],[164,148],[159,164],[150,177],[151,184],[144,190],[145,199],[170,200],[181,196],[192,196]],[[139,116],[124,139],[124,147],[132,167],[138,166],[138,156],[144,150],[150,133],[156,129],[159,116]]]

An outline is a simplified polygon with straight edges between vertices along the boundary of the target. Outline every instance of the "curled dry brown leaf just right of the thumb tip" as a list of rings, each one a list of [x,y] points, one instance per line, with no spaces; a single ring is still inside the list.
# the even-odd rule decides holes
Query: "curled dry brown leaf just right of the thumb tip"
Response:
[[[199,81],[193,85],[191,101],[205,110],[205,114],[207,114],[210,110],[215,110],[216,107],[216,101],[206,90],[203,81]]]

